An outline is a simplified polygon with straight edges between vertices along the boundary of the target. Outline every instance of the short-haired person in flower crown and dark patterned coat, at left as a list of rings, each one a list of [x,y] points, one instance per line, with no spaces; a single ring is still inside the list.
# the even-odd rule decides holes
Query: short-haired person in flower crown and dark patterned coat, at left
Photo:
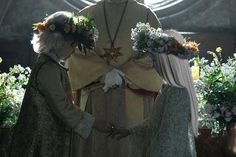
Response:
[[[72,132],[87,138],[92,128],[109,131],[108,122],[73,105],[67,69],[62,65],[76,46],[93,48],[95,27],[90,18],[64,11],[33,27],[31,43],[39,55],[13,128],[9,157],[69,157]]]

